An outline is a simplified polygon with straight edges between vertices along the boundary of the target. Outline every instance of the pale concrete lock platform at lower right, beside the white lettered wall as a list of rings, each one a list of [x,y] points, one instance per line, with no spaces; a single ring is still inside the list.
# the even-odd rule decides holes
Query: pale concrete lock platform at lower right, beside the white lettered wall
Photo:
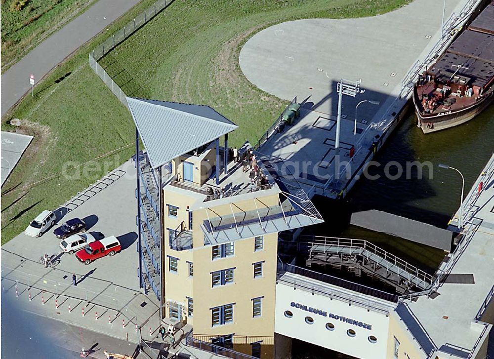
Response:
[[[483,173],[464,202],[464,238],[440,267],[443,281],[437,293],[407,301],[400,309],[412,335],[423,338],[423,346],[451,358],[470,358],[487,340],[493,323],[486,310],[492,308],[494,295],[494,155]],[[478,195],[480,181],[484,190]]]

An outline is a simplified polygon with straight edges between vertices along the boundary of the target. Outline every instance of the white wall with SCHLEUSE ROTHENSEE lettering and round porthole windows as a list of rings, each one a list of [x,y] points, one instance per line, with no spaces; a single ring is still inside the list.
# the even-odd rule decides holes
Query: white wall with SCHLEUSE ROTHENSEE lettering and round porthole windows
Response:
[[[298,305],[306,306],[307,310],[297,308]],[[322,313],[313,313],[310,308]],[[287,318],[285,311],[290,311],[292,317]],[[330,318],[331,315],[364,322],[371,325],[371,329],[344,322],[337,317]],[[308,324],[305,321],[306,317],[314,319],[313,324]],[[329,330],[326,327],[327,323],[333,324],[334,330]],[[355,337],[347,334],[349,329],[355,331]],[[294,290],[283,283],[276,285],[277,334],[298,338],[356,358],[376,359],[386,358],[388,330],[389,318],[385,314],[367,311],[356,305],[349,306],[347,302],[330,300],[326,296],[312,295],[301,289]],[[374,336],[377,341],[371,343],[370,336]]]

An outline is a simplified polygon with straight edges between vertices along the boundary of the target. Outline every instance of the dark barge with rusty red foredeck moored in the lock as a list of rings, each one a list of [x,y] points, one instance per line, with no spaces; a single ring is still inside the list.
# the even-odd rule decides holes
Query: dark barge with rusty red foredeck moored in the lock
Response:
[[[494,0],[413,89],[418,127],[435,132],[473,119],[494,100]]]

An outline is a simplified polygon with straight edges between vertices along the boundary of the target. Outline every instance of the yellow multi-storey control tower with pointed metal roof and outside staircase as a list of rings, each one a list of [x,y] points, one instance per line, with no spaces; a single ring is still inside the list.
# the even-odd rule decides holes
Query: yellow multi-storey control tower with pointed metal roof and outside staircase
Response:
[[[319,212],[272,165],[278,159],[248,143],[229,151],[237,126],[210,107],[127,101],[141,286],[155,292],[163,318],[192,324],[197,340],[272,357],[278,234],[323,222]]]

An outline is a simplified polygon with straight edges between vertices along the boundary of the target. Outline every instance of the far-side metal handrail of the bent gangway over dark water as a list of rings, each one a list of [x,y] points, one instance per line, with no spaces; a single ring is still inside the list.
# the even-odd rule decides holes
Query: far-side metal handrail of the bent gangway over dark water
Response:
[[[317,239],[317,238],[322,238],[322,239]],[[320,245],[324,245],[324,250],[323,252],[329,251],[329,246],[336,246],[336,248],[362,248],[364,250],[367,250],[373,254],[376,254],[377,256],[383,258],[384,260],[390,262],[391,264],[402,268],[405,270],[407,273],[412,274],[413,276],[422,279],[429,284],[432,284],[434,281],[433,276],[430,274],[424,272],[423,270],[413,266],[412,264],[408,263],[407,261],[404,261],[403,259],[397,257],[394,254],[391,254],[387,252],[386,250],[376,246],[375,244],[365,240],[365,239],[345,239],[345,238],[332,238],[332,237],[319,237],[319,236],[314,236],[315,241],[312,242],[312,246],[310,248],[310,252],[313,251],[318,251],[318,247]],[[331,239],[331,240],[328,240]]]

